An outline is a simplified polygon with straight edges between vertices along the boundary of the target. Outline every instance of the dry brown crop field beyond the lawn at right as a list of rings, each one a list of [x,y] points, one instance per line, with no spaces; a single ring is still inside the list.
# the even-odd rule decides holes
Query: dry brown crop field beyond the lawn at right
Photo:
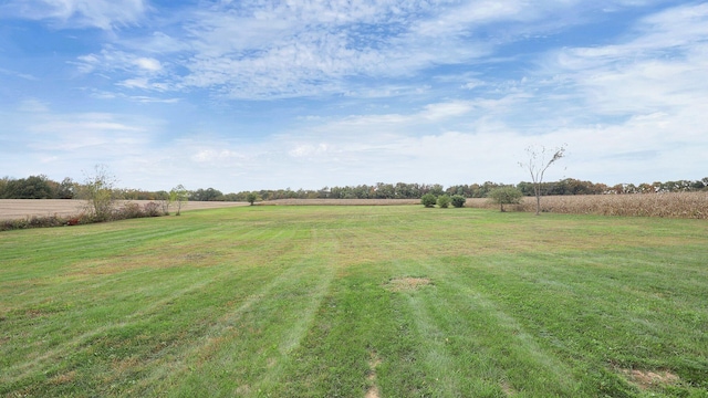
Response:
[[[467,199],[466,207],[499,209],[483,198]],[[510,211],[535,211],[535,198],[504,206]],[[541,198],[541,210],[566,214],[639,216],[708,219],[708,192],[579,195]]]

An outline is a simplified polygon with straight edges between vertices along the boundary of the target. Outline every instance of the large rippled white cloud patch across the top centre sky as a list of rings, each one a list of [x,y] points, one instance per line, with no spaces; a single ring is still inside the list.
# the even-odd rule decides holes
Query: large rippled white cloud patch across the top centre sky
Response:
[[[187,22],[180,29],[186,34],[180,39],[160,30],[148,39],[118,43],[145,55],[180,52],[178,66],[188,72],[170,71],[169,81],[163,82],[169,90],[208,88],[239,100],[334,93],[391,96],[396,94],[350,87],[360,77],[405,77],[435,65],[479,59],[493,45],[516,40],[512,33],[493,40],[477,38],[486,24],[542,19],[566,7],[486,0],[220,2],[185,12]],[[122,63],[126,55],[114,49],[93,56],[104,70],[128,61]],[[133,64],[143,59],[134,56]],[[83,61],[84,71],[96,69],[95,60]],[[143,70],[165,72],[159,61],[153,61]],[[464,84],[471,88],[479,82]]]

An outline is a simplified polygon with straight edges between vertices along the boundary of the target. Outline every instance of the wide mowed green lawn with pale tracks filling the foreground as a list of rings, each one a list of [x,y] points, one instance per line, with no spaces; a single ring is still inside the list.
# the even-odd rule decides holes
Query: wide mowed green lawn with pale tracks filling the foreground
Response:
[[[0,233],[0,396],[367,392],[707,397],[708,224],[248,207]]]

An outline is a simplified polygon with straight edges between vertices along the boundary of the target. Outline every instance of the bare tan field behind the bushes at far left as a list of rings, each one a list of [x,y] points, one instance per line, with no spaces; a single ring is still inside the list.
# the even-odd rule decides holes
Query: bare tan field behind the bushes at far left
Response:
[[[143,205],[150,202],[150,200],[132,200],[132,202]],[[0,220],[14,220],[32,216],[76,216],[83,211],[85,203],[84,200],[70,199],[0,199]],[[183,211],[246,205],[248,203],[191,201],[183,207]]]

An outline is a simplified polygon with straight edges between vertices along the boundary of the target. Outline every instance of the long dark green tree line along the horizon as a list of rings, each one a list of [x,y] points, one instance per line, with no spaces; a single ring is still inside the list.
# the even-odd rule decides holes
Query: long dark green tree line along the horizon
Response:
[[[0,178],[0,199],[84,199],[82,191],[86,182],[76,182],[66,177],[54,181],[46,176],[30,176],[13,179]],[[358,185],[345,187],[324,187],[317,190],[290,188],[278,190],[241,191],[223,193],[215,188],[187,190],[190,201],[250,201],[253,195],[262,200],[275,199],[420,199],[426,193],[434,196],[455,196],[465,198],[487,198],[497,188],[512,187],[524,196],[533,196],[533,182],[521,181],[517,185],[504,185],[491,181],[483,184],[455,185],[448,188],[439,184],[384,184]],[[146,191],[140,189],[114,188],[115,196],[127,200],[166,200],[170,192]],[[607,186],[574,178],[565,178],[554,182],[542,182],[543,195],[623,195],[623,193],[658,193],[708,190],[708,177],[700,180],[678,180],[652,184],[618,184]],[[249,197],[250,196],[250,197]]]

